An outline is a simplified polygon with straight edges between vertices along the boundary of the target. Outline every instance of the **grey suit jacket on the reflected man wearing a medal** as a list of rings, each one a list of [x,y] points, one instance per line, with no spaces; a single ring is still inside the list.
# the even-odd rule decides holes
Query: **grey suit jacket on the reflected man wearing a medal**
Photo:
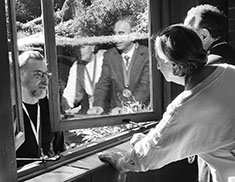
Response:
[[[138,45],[135,51],[129,68],[131,70],[128,89],[136,101],[148,104],[150,98],[148,48]],[[123,89],[125,89],[123,60],[114,47],[104,53],[102,73],[95,87],[93,106],[105,109],[109,102],[109,111],[114,107],[121,107],[118,95],[122,95]]]

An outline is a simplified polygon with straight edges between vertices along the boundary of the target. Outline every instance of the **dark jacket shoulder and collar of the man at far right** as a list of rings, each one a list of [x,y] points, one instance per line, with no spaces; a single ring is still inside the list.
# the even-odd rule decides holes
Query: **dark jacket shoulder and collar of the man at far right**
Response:
[[[208,64],[228,63],[235,65],[235,49],[223,40],[215,41],[209,47],[208,54]]]

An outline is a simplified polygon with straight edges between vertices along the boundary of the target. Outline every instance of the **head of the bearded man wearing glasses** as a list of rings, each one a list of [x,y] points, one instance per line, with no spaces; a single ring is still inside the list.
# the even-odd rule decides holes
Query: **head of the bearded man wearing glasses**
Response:
[[[47,94],[51,74],[46,61],[38,51],[25,51],[19,56],[19,67],[23,101],[34,104]]]

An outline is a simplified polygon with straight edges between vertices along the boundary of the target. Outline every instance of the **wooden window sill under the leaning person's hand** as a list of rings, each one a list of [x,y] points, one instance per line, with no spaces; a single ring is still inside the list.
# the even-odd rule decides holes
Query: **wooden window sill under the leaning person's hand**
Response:
[[[157,122],[152,122],[131,131],[104,138],[100,143],[66,151],[59,160],[36,164],[27,170],[18,171],[18,181],[44,181],[46,178],[59,182],[71,181],[73,178],[77,179],[103,168],[105,171],[112,170],[110,173],[115,173],[117,171],[110,165],[98,159],[98,153],[104,150],[125,151],[130,147],[129,140],[134,133],[146,133],[156,124]]]

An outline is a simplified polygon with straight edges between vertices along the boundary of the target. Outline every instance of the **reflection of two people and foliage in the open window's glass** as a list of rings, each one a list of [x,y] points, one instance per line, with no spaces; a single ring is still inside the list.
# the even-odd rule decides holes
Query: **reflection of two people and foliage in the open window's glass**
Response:
[[[78,8],[74,9],[79,13],[74,12],[69,21],[63,18],[62,22],[55,27],[62,120],[93,118],[99,117],[100,114],[120,115],[152,111],[149,71],[148,79],[143,78],[145,68],[139,69],[142,65],[135,63],[143,60],[139,60],[132,50],[129,54],[133,59],[128,70],[126,69],[128,66],[124,67],[124,54],[120,53],[122,52],[120,46],[129,42],[134,42],[133,49],[148,47],[147,1],[126,0],[106,3],[100,0],[93,1],[91,5],[78,3],[75,5]],[[65,14],[66,11],[63,11],[62,15]],[[134,19],[131,23],[131,31],[125,32],[128,24],[124,25],[124,30],[117,28],[114,30],[115,22],[127,15]],[[117,27],[121,26],[123,25]],[[110,50],[115,51],[119,56],[111,54],[110,58]],[[147,49],[145,56],[149,57]],[[107,65],[110,61],[113,62],[112,59],[117,59],[115,62],[118,64]],[[115,66],[117,68],[114,68]],[[149,62],[147,67],[149,70]],[[105,69],[111,73],[107,73]],[[104,82],[110,83],[107,85]],[[145,86],[145,89],[138,90],[137,86],[132,86],[133,82],[139,85],[148,82],[148,88]],[[105,89],[105,93],[101,91],[102,89]],[[145,94],[148,102],[143,102],[144,99],[140,99],[141,96],[139,96],[141,94],[135,92]],[[97,97],[103,97],[102,103]],[[94,106],[99,107],[92,110]]]

